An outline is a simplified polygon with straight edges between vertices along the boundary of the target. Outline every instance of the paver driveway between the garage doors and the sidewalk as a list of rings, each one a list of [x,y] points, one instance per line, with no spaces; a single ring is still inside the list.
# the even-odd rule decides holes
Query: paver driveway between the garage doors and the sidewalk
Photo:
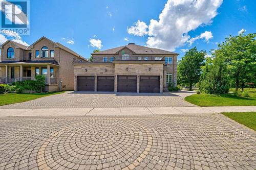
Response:
[[[184,101],[189,91],[173,93],[90,93],[65,92],[1,108],[105,108],[195,106]]]

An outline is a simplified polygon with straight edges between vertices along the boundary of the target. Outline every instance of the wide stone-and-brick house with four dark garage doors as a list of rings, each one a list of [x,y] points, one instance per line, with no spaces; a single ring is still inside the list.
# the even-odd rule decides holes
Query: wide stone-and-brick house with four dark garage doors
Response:
[[[76,91],[163,92],[177,82],[179,54],[129,43],[73,62]]]

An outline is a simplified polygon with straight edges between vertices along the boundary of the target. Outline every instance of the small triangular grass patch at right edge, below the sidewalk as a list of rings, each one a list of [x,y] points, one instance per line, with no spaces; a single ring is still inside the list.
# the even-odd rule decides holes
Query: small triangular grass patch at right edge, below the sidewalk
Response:
[[[222,114],[256,131],[256,112],[229,112]]]

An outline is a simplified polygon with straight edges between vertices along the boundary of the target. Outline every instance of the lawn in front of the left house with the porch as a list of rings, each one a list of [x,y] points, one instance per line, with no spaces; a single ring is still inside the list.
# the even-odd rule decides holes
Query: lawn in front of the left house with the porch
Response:
[[[33,93],[33,94],[17,94],[17,93],[0,94],[0,106],[31,101],[34,99],[42,98],[44,96],[48,96],[48,95],[61,94],[63,92],[65,91]]]

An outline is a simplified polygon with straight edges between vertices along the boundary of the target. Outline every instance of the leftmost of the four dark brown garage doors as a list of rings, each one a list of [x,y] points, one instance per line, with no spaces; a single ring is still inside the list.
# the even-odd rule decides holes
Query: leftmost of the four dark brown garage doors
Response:
[[[94,76],[77,76],[77,91],[94,91]]]

